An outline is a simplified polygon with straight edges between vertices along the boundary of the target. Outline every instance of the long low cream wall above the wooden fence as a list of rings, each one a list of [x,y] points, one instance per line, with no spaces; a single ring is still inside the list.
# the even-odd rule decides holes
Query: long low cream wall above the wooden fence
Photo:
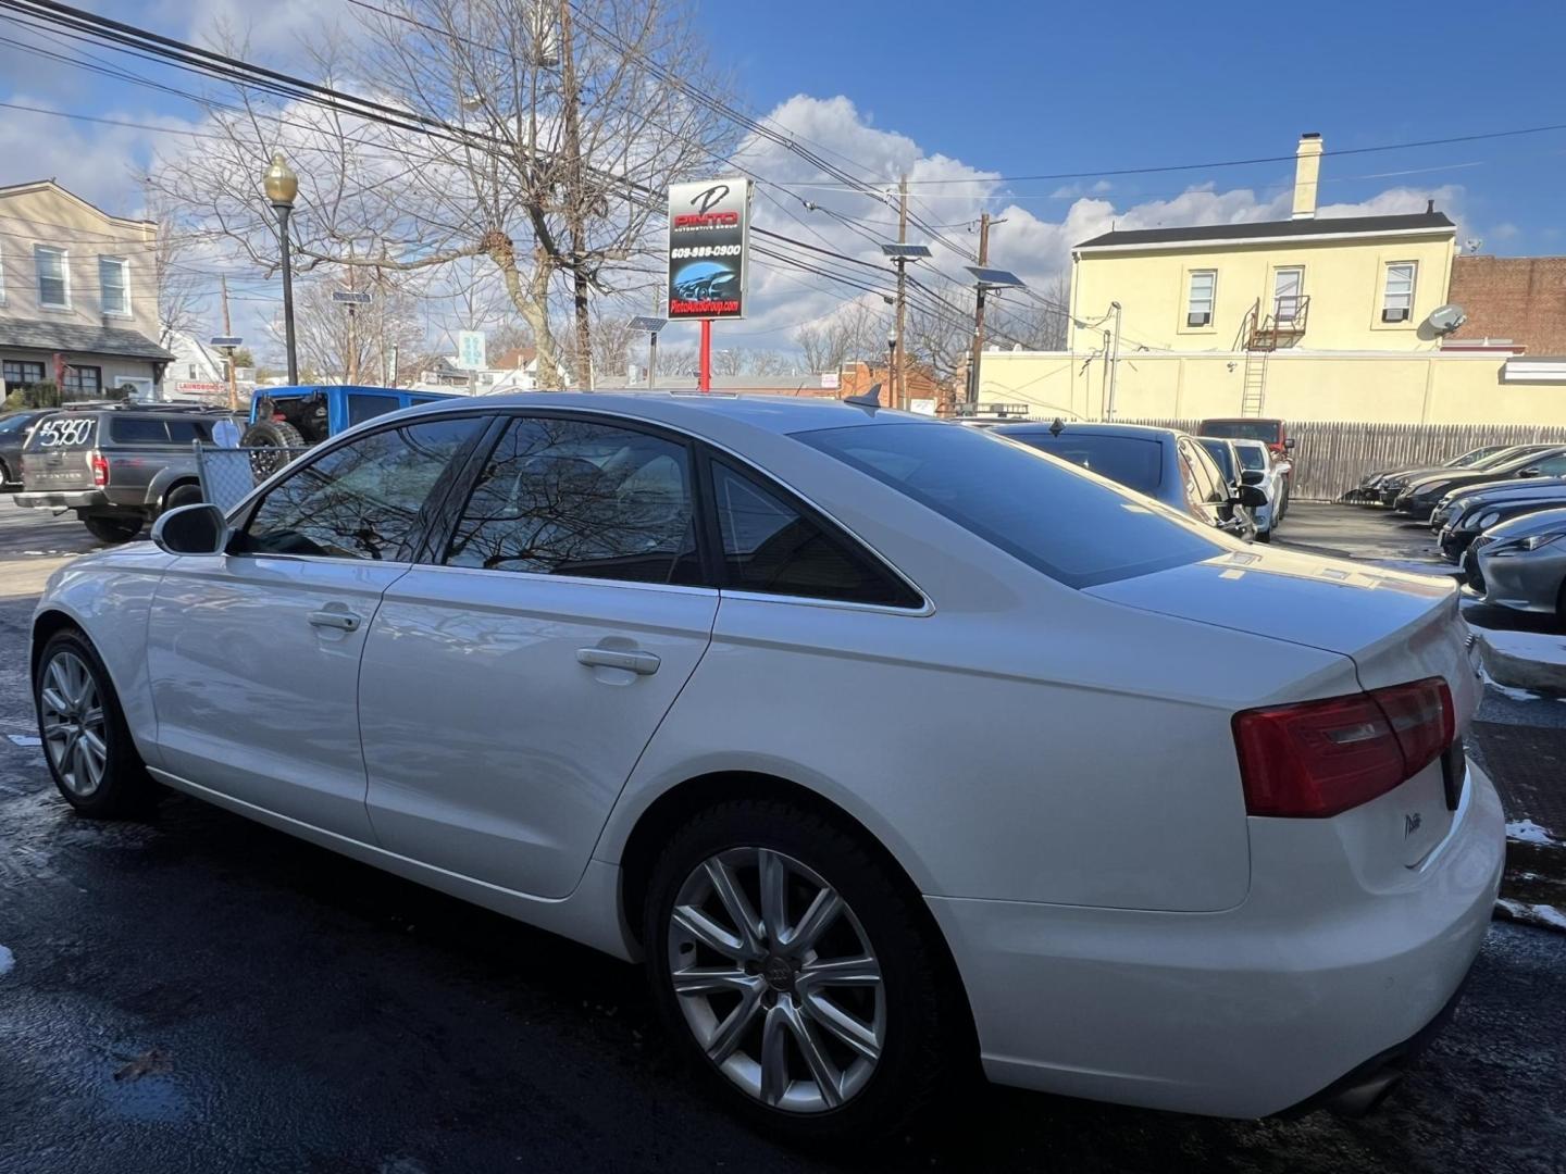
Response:
[[[1402,424],[1563,424],[1566,384],[1503,384],[1499,355],[1279,352],[1267,362],[1261,415]],[[1101,355],[987,352],[980,405],[1034,416],[1104,420]],[[1129,354],[1115,373],[1115,420],[1240,415],[1243,354]]]

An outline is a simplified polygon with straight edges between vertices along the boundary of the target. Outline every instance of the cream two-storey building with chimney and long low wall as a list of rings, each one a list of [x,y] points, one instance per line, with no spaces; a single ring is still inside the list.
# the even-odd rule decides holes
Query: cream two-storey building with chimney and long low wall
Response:
[[[1561,360],[1447,340],[1456,227],[1434,207],[1115,230],[1073,250],[1070,351],[987,352],[979,401],[1034,415],[1566,424]]]

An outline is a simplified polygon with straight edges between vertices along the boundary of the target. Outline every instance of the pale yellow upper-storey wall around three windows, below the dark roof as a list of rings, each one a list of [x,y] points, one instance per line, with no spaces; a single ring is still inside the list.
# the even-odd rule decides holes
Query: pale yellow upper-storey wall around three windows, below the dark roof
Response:
[[[1322,230],[1331,221],[1320,222]],[[1311,299],[1298,348],[1312,351],[1434,351],[1439,338],[1423,326],[1445,302],[1452,280],[1450,229],[1409,236],[1358,236],[1348,241],[1259,241],[1251,244],[1181,244],[1178,249],[1085,252],[1073,268],[1071,313],[1098,322],[1121,305],[1120,354],[1138,348],[1162,351],[1243,349],[1240,327],[1261,299],[1272,308],[1279,268],[1304,269],[1303,293]],[[1408,322],[1383,322],[1386,266],[1414,261],[1414,313]],[[1190,272],[1217,271],[1211,326],[1185,326]],[[1102,346],[1113,318],[1088,330],[1074,329],[1071,346]]]

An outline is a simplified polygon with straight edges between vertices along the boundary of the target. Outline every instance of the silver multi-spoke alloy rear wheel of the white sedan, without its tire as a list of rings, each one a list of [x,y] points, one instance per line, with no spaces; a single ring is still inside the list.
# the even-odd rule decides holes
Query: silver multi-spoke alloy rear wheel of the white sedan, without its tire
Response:
[[[761,1104],[821,1113],[875,1072],[880,963],[847,902],[792,856],[745,847],[705,859],[680,886],[667,947],[697,1043]]]

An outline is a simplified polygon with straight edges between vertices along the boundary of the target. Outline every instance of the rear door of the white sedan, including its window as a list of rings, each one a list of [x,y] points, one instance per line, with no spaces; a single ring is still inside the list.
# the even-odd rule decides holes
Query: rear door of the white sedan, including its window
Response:
[[[449,538],[370,626],[360,728],[382,847],[537,897],[575,889],[711,640],[692,451],[518,415]]]

